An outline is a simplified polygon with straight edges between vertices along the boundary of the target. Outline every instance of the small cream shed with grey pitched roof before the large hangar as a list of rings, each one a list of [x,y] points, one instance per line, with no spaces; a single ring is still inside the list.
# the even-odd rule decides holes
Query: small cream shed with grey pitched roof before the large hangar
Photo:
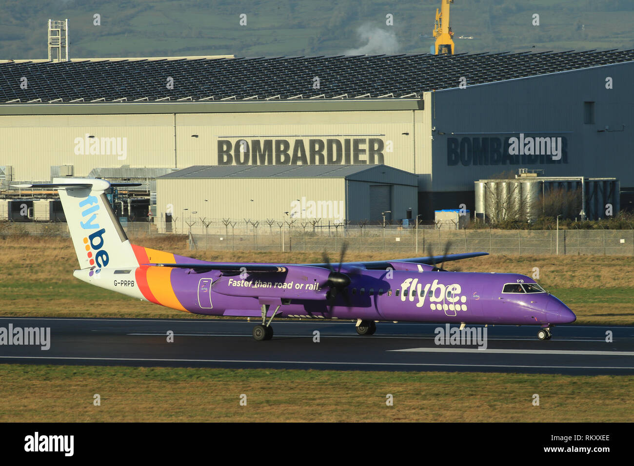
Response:
[[[166,229],[171,217],[184,219],[191,211],[333,224],[382,219],[384,212],[410,219],[417,198],[417,176],[387,165],[207,165],[157,178],[157,215],[167,219]]]

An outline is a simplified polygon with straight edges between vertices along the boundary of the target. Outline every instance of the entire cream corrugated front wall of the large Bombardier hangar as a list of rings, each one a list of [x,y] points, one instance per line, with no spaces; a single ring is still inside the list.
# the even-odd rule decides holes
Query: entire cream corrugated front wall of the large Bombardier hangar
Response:
[[[88,176],[98,167],[122,165],[162,168],[216,165],[219,140],[235,145],[243,138],[251,145],[255,139],[261,144],[266,139],[273,140],[273,144],[275,140],[284,139],[290,144],[292,155],[295,141],[299,139],[309,157],[310,139],[320,139],[324,144],[328,139],[337,139],[341,142],[342,158],[348,140],[349,152],[353,152],[354,144],[358,145],[360,164],[372,162],[369,152],[374,148],[383,154],[382,160],[378,155],[374,157],[374,163],[384,162],[414,172],[414,146],[417,145],[418,150],[424,145],[424,139],[418,141],[422,131],[414,126],[415,119],[420,126],[421,115],[422,110],[4,115],[0,116],[0,140],[3,141],[0,165],[12,165],[15,180],[43,181],[49,179],[50,167],[56,165],[73,165],[75,176]],[[418,134],[416,143],[415,134]],[[119,138],[121,149],[125,138],[125,151],[110,155],[92,153],[91,148],[101,143],[101,138],[108,138],[107,145],[109,138]],[[380,142],[374,145],[372,139]],[[251,152],[250,147],[248,151]],[[327,153],[327,149],[323,152]],[[313,158],[316,163],[321,162],[319,156]],[[354,163],[352,154],[350,158],[349,163]]]

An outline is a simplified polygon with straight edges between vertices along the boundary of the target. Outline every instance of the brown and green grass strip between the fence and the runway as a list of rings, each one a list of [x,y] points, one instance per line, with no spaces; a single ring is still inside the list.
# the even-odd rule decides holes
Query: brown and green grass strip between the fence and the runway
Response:
[[[190,251],[181,236],[134,241],[153,249],[209,261],[321,262],[319,252]],[[333,260],[338,256],[331,254]],[[346,259],[380,260],[409,254],[350,251]],[[533,275],[559,296],[585,324],[634,324],[634,257],[618,256],[484,256],[447,262],[450,270],[514,272]],[[0,239],[0,313],[6,316],[99,316],[195,318],[139,302],[75,280],[77,259],[70,239],[8,237]],[[89,297],[89,298],[87,298]]]

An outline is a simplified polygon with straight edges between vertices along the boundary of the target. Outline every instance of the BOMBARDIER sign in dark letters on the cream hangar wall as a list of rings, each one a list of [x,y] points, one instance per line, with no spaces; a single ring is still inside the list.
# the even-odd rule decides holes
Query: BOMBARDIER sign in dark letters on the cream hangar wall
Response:
[[[374,165],[383,151],[379,138],[218,139],[218,165]]]

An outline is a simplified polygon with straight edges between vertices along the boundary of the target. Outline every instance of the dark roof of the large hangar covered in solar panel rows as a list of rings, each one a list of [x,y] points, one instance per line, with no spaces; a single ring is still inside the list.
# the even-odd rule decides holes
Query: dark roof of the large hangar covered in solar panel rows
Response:
[[[6,62],[0,103],[401,98],[457,87],[461,77],[484,84],[626,61],[634,50]]]

